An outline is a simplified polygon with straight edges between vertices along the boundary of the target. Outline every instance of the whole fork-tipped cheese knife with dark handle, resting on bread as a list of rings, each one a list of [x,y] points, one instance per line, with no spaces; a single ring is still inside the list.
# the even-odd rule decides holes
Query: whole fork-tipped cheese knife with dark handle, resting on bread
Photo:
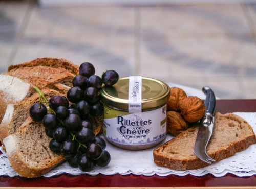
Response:
[[[203,118],[200,120],[194,151],[199,159],[211,164],[211,161],[215,160],[208,156],[206,153],[206,147],[214,128],[214,110],[216,100],[214,91],[212,91],[210,87],[204,86],[202,90],[206,95],[206,99],[204,101],[206,110]]]

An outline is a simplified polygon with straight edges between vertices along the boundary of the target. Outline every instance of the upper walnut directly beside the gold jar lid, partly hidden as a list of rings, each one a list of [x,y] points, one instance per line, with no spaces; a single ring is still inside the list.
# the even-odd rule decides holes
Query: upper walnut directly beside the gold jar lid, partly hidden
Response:
[[[180,101],[187,97],[186,92],[178,87],[170,88],[170,97],[167,103],[168,111],[180,112]]]

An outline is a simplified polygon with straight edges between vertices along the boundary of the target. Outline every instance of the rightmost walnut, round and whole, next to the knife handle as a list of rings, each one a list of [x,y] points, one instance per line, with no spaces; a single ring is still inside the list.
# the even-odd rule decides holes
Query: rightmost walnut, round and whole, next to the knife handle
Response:
[[[187,97],[180,102],[181,115],[187,122],[197,122],[205,112],[205,105],[198,97]]]

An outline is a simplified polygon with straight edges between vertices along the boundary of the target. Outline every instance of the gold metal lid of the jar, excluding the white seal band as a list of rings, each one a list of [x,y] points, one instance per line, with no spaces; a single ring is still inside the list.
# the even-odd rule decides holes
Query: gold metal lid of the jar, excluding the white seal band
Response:
[[[169,100],[170,87],[157,79],[142,77],[142,110],[156,108]],[[100,90],[104,104],[118,109],[128,109],[129,77],[119,78],[113,86],[104,86]]]

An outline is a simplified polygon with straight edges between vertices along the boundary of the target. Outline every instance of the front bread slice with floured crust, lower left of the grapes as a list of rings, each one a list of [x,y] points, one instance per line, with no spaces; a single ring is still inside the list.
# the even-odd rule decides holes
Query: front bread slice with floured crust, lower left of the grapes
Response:
[[[28,117],[14,134],[3,140],[12,168],[21,176],[34,178],[56,167],[65,157],[50,150],[50,140],[44,126]]]

